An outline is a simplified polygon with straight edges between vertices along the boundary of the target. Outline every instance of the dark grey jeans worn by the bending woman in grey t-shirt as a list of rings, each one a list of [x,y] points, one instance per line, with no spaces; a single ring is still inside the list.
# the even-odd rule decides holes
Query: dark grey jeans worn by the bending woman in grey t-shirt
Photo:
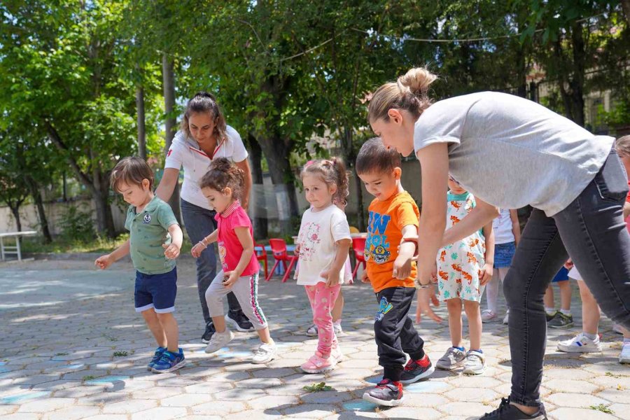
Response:
[[[547,323],[542,297],[568,256],[601,309],[630,328],[630,235],[622,216],[626,172],[612,151],[593,181],[558,214],[534,209],[503,288],[510,307],[510,400],[540,403]]]

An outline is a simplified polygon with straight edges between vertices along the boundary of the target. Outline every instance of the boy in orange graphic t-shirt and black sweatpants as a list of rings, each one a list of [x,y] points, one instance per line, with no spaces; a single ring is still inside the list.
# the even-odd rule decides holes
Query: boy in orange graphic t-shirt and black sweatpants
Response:
[[[435,370],[407,316],[416,293],[416,263],[412,261],[416,244],[400,241],[403,236],[418,235],[420,212],[400,185],[400,166],[398,152],[383,146],[380,139],[366,141],[356,158],[356,173],[367,192],[376,197],[369,208],[363,282],[372,283],[379,302],[374,338],[383,367],[383,380],[363,399],[389,407],[402,402],[402,384],[412,384]],[[406,365],[405,353],[410,357]]]

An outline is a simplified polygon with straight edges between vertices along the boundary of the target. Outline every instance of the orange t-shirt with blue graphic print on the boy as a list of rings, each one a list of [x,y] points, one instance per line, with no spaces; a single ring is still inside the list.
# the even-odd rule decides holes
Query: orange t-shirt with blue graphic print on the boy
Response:
[[[408,225],[418,227],[420,211],[407,191],[392,195],[389,200],[374,199],[368,209],[367,239],[365,240],[365,261],[367,277],[374,292],[389,287],[415,287],[416,263],[412,262],[412,272],[404,280],[393,277],[393,263],[398,258],[398,245],[402,239],[402,228]]]

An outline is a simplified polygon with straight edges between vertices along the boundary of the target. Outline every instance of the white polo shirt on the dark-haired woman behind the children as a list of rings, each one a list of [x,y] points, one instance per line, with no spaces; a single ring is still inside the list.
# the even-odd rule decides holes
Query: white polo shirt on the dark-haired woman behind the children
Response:
[[[228,139],[217,146],[214,156],[207,155],[194,139],[179,131],[175,134],[171,148],[167,153],[164,169],[174,168],[179,171],[183,166],[184,181],[181,185],[181,199],[195,206],[212,210],[208,200],[199,188],[199,181],[208,172],[213,158],[228,158],[232,162],[242,162],[248,153],[239,133],[228,125]]]

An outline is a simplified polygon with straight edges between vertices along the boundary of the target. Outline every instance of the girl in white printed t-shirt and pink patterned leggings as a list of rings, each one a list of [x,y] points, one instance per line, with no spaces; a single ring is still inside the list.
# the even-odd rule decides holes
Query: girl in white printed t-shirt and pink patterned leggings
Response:
[[[331,311],[344,281],[351,239],[346,215],[333,201],[348,195],[348,174],[344,163],[332,158],[307,163],[300,178],[311,207],[304,211],[297,234],[297,284],[306,288],[318,335],[315,354],[300,368],[322,373],[334,369],[341,358]]]

